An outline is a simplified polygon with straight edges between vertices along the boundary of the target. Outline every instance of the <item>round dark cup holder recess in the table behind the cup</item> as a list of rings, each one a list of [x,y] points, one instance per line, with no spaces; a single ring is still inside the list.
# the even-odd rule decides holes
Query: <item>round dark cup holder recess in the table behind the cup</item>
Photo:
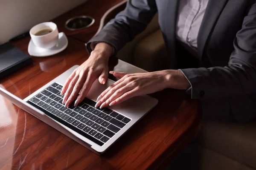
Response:
[[[89,16],[79,16],[79,17],[73,17],[67,20],[65,23],[65,27],[71,31],[88,28],[89,26],[92,26],[95,22],[93,17]]]

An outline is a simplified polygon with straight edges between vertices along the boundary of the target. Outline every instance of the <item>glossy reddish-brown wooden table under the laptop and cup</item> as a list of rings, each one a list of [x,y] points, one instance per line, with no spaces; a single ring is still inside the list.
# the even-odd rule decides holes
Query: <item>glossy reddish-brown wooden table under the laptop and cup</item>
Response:
[[[84,42],[67,35],[66,50],[52,57],[32,57],[32,65],[0,79],[0,86],[24,99],[71,66],[81,65],[89,57]],[[29,40],[13,44],[28,53]],[[110,69],[115,64],[116,59],[111,59]],[[159,104],[102,156],[0,96],[0,169],[162,169],[195,137],[201,110],[199,102],[183,91],[166,89],[151,96]]]

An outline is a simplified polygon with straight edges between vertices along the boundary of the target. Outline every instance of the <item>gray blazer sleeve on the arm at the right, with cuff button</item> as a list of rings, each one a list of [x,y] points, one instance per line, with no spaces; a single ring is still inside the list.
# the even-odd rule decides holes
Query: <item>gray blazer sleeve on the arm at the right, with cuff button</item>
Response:
[[[252,2],[252,1],[251,1]],[[192,99],[246,95],[256,91],[256,3],[250,4],[225,67],[181,69]]]

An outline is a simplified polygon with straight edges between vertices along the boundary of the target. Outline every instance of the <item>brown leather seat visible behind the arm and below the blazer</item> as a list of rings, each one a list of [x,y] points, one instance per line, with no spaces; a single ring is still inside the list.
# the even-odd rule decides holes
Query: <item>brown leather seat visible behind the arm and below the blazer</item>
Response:
[[[147,71],[160,70],[167,56],[157,17],[117,54]],[[204,122],[196,145],[200,170],[256,170],[256,122]]]

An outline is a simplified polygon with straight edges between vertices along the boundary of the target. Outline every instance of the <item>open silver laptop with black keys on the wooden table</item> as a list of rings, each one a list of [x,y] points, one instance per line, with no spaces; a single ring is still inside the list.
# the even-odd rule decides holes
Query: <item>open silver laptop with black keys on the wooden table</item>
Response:
[[[101,154],[151,111],[158,100],[143,95],[108,108],[95,108],[97,97],[114,83],[108,79],[102,85],[96,79],[83,102],[77,107],[70,105],[65,108],[61,88],[77,67],[79,65],[74,65],[25,99],[3,88],[0,88],[0,95],[84,147]]]

